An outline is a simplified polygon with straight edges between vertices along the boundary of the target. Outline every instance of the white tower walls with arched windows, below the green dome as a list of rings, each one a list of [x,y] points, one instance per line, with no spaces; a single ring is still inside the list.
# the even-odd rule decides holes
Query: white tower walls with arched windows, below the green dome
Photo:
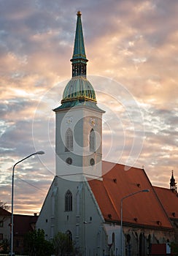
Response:
[[[56,175],[66,176],[69,180],[81,181],[82,173],[88,177],[101,177],[102,159],[102,113],[87,108],[71,108],[56,112]],[[66,130],[71,129],[74,135],[74,148],[65,151]],[[96,150],[90,152],[89,135],[93,129],[96,134]],[[72,164],[66,163],[67,158]],[[90,165],[90,159],[95,165]]]

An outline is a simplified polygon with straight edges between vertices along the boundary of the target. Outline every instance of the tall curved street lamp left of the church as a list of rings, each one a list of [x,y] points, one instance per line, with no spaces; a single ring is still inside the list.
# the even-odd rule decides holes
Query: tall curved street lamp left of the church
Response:
[[[30,154],[28,157],[32,157],[35,154],[44,154],[44,151],[36,151],[33,154]],[[14,214],[13,214],[13,210],[14,210],[14,171],[15,171],[15,166],[18,165],[20,162],[23,162],[24,160],[26,160],[28,157],[25,157],[23,159],[21,159],[20,161],[16,162],[15,165],[12,168],[12,204],[11,204],[11,246],[10,246],[10,256],[14,255],[13,253],[13,238],[14,238]]]

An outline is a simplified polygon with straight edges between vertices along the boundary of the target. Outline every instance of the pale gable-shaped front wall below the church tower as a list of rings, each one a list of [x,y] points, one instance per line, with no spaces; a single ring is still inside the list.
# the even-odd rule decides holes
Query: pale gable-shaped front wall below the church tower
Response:
[[[72,211],[65,211],[65,194],[72,193]],[[103,255],[107,252],[104,219],[86,182],[55,177],[39,214],[36,228],[42,228],[48,240],[59,231],[70,231],[79,255]]]

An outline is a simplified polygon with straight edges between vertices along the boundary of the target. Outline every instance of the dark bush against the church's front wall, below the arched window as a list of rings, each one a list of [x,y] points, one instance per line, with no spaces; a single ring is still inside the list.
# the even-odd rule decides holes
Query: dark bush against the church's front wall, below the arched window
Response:
[[[74,255],[74,245],[68,234],[58,232],[53,238],[53,247],[56,256]]]

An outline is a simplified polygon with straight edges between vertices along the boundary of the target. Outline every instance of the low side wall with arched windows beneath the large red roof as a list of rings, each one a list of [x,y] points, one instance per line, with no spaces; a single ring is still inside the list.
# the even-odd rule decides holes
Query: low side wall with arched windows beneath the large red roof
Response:
[[[108,250],[105,255],[118,256],[121,251],[120,225],[105,223]],[[174,241],[174,233],[166,230],[153,230],[151,227],[123,227],[123,256],[150,255],[151,244],[167,244]]]

